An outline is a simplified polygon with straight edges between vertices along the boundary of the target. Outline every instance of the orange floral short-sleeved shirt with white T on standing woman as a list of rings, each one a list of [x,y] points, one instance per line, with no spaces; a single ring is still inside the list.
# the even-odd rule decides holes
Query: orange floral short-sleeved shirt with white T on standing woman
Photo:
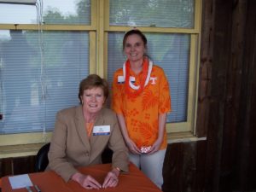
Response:
[[[135,78],[135,85],[140,84],[143,73],[135,74],[130,72]],[[112,84],[112,108],[118,114],[123,114],[127,131],[131,140],[142,146],[151,146],[158,137],[159,114],[171,111],[171,96],[168,80],[161,67],[153,66],[150,80],[144,87],[143,92],[138,96],[125,94],[125,83],[123,79],[123,69],[120,68],[114,73]],[[131,89],[131,87],[129,87]],[[135,91],[132,90],[131,91]],[[166,148],[166,129],[164,139],[160,149]]]

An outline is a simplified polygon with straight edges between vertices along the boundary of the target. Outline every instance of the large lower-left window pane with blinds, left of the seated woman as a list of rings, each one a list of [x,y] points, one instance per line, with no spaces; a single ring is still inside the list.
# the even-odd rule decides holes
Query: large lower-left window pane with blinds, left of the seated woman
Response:
[[[0,133],[53,130],[55,113],[79,104],[88,32],[0,31],[0,42]]]

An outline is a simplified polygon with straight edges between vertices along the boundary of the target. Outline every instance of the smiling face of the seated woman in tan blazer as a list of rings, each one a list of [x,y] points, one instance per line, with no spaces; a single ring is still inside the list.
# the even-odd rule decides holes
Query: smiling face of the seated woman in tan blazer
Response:
[[[84,90],[84,94],[81,96],[84,112],[90,114],[98,113],[102,109],[105,100],[101,87]]]

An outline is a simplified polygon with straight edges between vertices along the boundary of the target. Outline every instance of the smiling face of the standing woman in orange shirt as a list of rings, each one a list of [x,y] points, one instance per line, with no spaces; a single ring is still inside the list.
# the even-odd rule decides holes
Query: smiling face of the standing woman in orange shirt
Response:
[[[145,44],[139,35],[132,34],[126,38],[124,52],[130,62],[142,62],[145,51]]]

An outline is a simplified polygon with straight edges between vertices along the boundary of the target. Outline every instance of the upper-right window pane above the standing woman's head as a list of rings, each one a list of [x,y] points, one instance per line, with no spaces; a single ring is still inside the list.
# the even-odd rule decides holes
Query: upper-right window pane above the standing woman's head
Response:
[[[110,0],[110,26],[194,28],[195,0]]]

